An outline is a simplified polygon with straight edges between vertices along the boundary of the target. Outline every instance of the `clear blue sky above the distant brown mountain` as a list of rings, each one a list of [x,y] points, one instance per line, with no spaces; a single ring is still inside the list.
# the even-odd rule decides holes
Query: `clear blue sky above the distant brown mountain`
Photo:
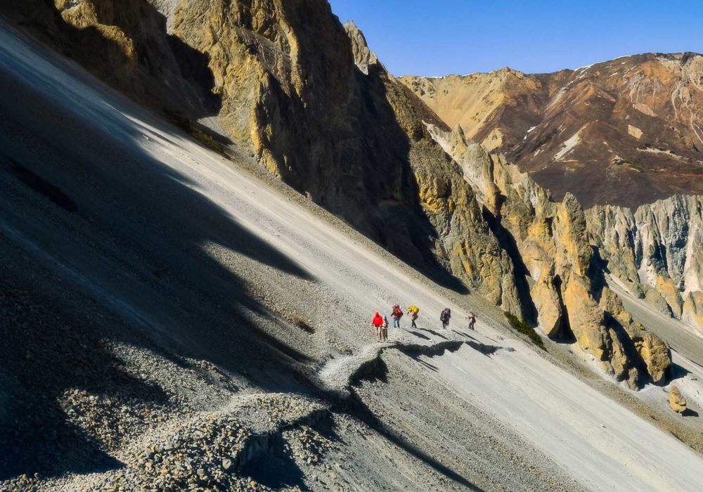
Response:
[[[703,51],[703,0],[330,0],[394,75],[554,72]]]

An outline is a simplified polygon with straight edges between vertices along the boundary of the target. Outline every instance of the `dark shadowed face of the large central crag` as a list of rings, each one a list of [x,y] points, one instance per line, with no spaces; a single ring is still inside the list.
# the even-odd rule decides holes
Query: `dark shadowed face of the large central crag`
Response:
[[[394,82],[380,65],[370,66],[368,75],[354,65],[349,37],[331,13],[316,19],[325,26],[318,32],[307,18],[317,8],[292,3],[290,9],[301,11],[288,13],[288,20],[300,22],[291,27],[299,41],[299,70],[316,81],[302,95],[292,93],[285,75],[262,62],[269,70],[268,93],[257,110],[270,126],[260,137],[281,179],[435,283],[467,293],[449,271],[449,260],[438,261],[444,255],[441,238],[420,205],[413,162],[434,162],[422,148],[426,144],[418,143],[425,138],[415,117],[419,110],[394,100],[398,95],[388,93]],[[412,113],[410,135],[396,110]],[[432,156],[446,158],[441,150]]]

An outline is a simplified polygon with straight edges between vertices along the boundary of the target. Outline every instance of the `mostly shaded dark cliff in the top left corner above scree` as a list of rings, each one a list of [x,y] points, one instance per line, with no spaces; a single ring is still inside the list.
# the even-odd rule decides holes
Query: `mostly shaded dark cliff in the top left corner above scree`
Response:
[[[176,0],[6,0],[0,15],[139,103],[197,119],[219,110],[207,55],[167,32]]]

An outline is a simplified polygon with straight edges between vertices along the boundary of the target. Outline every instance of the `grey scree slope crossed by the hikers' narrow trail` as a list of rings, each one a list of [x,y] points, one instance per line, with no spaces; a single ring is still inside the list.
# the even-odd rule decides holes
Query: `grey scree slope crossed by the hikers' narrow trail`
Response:
[[[703,487],[666,392],[531,346],[2,22],[0,82],[0,489]],[[580,261],[583,214],[554,208]],[[408,299],[419,327],[375,342],[369,313]]]

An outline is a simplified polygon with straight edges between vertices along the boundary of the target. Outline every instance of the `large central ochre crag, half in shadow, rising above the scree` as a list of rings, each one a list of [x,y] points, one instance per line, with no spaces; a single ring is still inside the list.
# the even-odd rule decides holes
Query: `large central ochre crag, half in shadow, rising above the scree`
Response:
[[[208,53],[228,135],[440,283],[436,272],[446,271],[519,311],[510,258],[421,123],[441,122],[378,63],[363,34],[342,27],[324,1],[228,5],[180,4],[173,21],[174,34]]]

